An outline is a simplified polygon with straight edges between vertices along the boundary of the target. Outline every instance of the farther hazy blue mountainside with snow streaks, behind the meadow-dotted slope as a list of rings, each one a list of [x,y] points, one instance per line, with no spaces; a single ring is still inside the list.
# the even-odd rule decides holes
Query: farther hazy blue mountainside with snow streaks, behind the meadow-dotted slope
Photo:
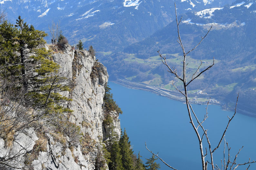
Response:
[[[181,0],[179,13],[219,7],[234,0]],[[21,15],[37,29],[48,30],[52,21],[61,23],[71,44],[78,40],[98,51],[119,50],[143,40],[174,19],[174,0],[1,0],[12,22]],[[51,37],[48,38],[50,40]]]

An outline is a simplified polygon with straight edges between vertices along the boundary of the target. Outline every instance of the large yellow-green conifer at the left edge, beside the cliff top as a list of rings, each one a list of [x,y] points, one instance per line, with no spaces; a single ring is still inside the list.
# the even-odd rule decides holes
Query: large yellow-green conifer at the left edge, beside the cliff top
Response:
[[[21,17],[16,27],[3,22],[0,25],[0,76],[16,83],[16,88],[24,89],[34,107],[69,111],[60,106],[69,99],[59,94],[69,90],[69,85],[63,84],[67,79],[58,72],[59,65],[50,60],[50,50],[40,48],[45,44],[45,36],[44,31],[35,30],[33,25],[27,27]],[[8,87],[1,86],[3,93]]]

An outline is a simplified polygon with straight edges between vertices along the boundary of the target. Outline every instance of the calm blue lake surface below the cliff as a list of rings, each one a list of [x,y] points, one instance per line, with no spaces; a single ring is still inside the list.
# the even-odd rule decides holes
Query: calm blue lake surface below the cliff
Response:
[[[144,163],[145,158],[152,156],[145,148],[147,142],[150,150],[154,153],[159,152],[158,156],[178,170],[202,169],[198,139],[189,123],[184,103],[151,92],[129,89],[112,82],[109,82],[109,85],[114,100],[123,111],[119,117],[121,128],[127,131],[134,153],[140,152]],[[205,107],[206,105],[193,105],[200,120],[203,120],[206,113]],[[209,118],[203,125],[208,129],[212,148],[217,146],[226,128],[227,116],[232,115],[233,112],[223,111],[220,106],[209,105]],[[239,113],[235,115],[225,136],[231,147],[231,161],[242,146],[244,147],[238,155],[237,163],[248,162],[249,157],[251,160],[256,160],[255,130],[255,118]],[[204,147],[207,147],[206,140],[204,142]],[[219,167],[221,167],[221,159],[223,160],[223,148],[222,142],[220,148],[213,154],[214,163]],[[161,170],[170,169],[159,160],[157,163],[161,164]],[[244,170],[247,167],[240,166],[236,170]],[[208,169],[210,169],[209,165]],[[256,169],[256,163],[252,164],[250,169]]]

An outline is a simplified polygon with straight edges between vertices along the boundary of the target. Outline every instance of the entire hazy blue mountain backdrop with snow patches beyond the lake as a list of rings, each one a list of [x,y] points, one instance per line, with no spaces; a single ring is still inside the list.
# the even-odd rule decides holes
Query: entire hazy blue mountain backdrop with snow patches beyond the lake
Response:
[[[180,0],[176,4],[179,17],[183,16],[180,28],[185,49],[194,47],[213,26],[191,53],[188,71],[192,74],[200,60],[207,67],[213,57],[216,65],[191,84],[190,92],[201,89],[227,107],[240,92],[241,110],[255,113],[256,1]],[[93,45],[112,80],[125,78],[172,90],[175,79],[157,56],[159,49],[170,58],[170,65],[181,69],[173,0],[0,0],[0,6],[11,22],[21,15],[46,32],[52,21],[60,21],[70,44],[82,40],[84,47]]]

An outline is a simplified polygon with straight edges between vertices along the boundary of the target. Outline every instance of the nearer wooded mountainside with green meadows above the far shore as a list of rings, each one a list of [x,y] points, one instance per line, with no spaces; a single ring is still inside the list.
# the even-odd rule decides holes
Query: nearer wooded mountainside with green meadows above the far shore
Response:
[[[200,60],[205,68],[212,63],[214,57],[215,65],[203,74],[201,80],[190,85],[191,93],[204,89],[209,97],[232,106],[232,101],[240,92],[241,109],[255,112],[255,11],[256,2],[248,0],[236,1],[222,8],[182,14],[180,33],[187,51],[213,26],[206,39],[190,53],[188,76],[192,76]],[[108,67],[112,78],[126,78],[174,90],[171,82],[175,78],[168,74],[156,51],[160,49],[168,58],[170,66],[174,66],[181,74],[182,51],[176,39],[177,25],[174,21],[143,41],[126,47],[123,53],[102,57],[100,60]],[[175,85],[179,87],[180,84],[176,82]]]

